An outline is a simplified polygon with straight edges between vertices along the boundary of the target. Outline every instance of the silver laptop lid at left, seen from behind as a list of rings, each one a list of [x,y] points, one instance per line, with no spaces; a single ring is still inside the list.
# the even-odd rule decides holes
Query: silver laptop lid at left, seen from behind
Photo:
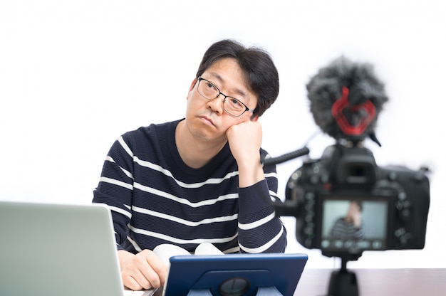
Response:
[[[0,201],[0,295],[150,295],[125,291],[102,204]]]

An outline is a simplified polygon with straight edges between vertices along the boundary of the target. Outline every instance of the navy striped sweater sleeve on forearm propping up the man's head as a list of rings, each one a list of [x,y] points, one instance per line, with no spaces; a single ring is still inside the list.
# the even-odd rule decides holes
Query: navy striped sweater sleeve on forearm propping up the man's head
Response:
[[[286,228],[276,217],[271,194],[276,196],[276,177],[239,189],[239,246],[241,253],[284,253]],[[272,187],[272,188],[271,188]],[[270,194],[271,192],[271,194]]]

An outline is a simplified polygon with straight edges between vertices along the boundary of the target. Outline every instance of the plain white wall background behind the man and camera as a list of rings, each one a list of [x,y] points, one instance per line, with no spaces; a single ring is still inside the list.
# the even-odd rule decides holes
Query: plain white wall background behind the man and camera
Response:
[[[0,199],[90,203],[110,145],[123,132],[185,114],[202,54],[221,38],[264,47],[281,90],[261,117],[263,147],[279,156],[316,132],[305,84],[344,54],[367,61],[390,102],[378,122],[380,165],[432,169],[424,250],[365,252],[349,267],[445,268],[446,159],[440,140],[446,9],[425,1],[0,0]],[[332,144],[314,139],[312,157]],[[280,194],[301,166],[278,167]],[[296,242],[308,267],[336,260]]]

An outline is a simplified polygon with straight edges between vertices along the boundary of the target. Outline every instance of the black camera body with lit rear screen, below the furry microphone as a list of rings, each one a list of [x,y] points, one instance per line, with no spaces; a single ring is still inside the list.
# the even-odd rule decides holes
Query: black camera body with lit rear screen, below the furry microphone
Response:
[[[354,215],[351,203],[361,205]],[[291,174],[286,200],[275,207],[277,216],[296,217],[304,247],[357,260],[364,250],[424,248],[429,204],[424,170],[379,167],[369,149],[337,142]]]

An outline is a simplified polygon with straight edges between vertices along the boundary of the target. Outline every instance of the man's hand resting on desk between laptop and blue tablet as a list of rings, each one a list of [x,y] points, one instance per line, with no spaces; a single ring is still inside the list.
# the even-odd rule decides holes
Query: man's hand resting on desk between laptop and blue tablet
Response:
[[[165,284],[167,266],[152,250],[133,254],[118,250],[121,277],[125,287],[131,290],[148,290]]]

